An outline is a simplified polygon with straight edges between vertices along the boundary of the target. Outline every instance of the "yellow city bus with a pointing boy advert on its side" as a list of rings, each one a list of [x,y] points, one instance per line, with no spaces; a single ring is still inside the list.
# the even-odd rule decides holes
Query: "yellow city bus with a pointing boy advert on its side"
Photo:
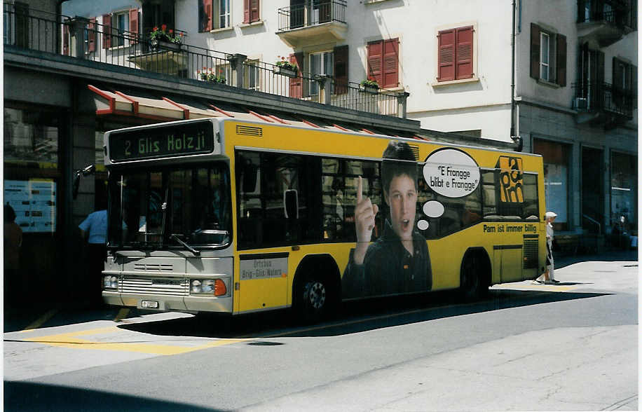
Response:
[[[472,298],[542,273],[541,156],[292,123],[107,132],[104,301],[318,320],[342,300]]]

